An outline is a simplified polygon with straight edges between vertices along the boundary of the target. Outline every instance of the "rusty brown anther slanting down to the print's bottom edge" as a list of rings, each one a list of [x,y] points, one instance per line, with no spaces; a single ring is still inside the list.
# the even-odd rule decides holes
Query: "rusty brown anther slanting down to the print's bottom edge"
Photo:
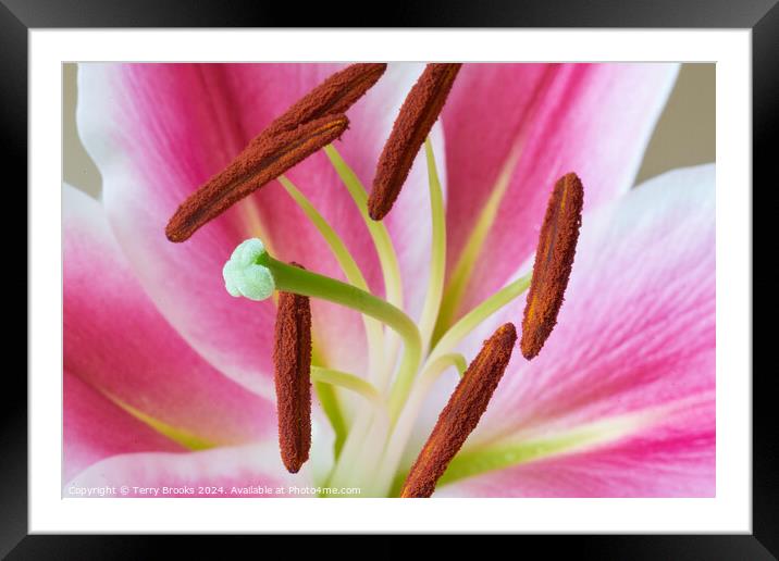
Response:
[[[433,494],[435,483],[486,411],[511,358],[515,342],[517,331],[510,323],[498,327],[484,341],[411,466],[400,497],[430,497]]]

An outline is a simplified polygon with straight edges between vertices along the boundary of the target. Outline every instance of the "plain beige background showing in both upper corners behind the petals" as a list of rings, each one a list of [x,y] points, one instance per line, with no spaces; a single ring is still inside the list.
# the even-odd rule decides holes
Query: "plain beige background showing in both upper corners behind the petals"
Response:
[[[63,65],[64,180],[91,195],[100,192],[100,173],[76,132],[77,66]],[[668,104],[644,154],[636,183],[684,165],[715,161],[715,65],[683,64]]]

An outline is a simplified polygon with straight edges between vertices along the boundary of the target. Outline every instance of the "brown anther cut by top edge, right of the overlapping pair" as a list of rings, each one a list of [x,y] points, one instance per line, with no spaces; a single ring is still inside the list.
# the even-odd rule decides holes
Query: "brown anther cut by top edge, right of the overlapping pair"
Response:
[[[392,209],[408,177],[413,159],[438,119],[461,64],[428,64],[395,120],[379,160],[368,199],[371,219],[382,220]]]

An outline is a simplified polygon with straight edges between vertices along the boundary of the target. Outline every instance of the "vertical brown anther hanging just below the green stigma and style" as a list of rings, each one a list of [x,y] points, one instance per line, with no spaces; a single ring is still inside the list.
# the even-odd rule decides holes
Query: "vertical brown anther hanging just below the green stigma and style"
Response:
[[[279,292],[273,364],[279,448],[287,471],[297,473],[311,448],[311,308],[305,296]]]

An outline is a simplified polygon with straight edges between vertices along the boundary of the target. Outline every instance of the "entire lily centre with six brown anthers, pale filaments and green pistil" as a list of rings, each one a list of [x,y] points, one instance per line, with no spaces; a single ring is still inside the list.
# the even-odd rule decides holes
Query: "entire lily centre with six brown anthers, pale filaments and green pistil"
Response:
[[[355,70],[357,66],[366,67]],[[454,366],[461,375],[460,383],[411,467],[401,496],[424,497],[433,493],[436,482],[486,410],[511,357],[516,328],[510,323],[498,328],[470,365],[456,351],[458,344],[530,286],[520,346],[527,359],[535,357],[556,323],[573,261],[583,199],[581,182],[574,174],[568,174],[553,189],[532,280],[528,273],[456,322],[442,319],[445,210],[432,144],[425,138],[458,71],[457,64],[428,66],[400,110],[382,154],[370,199],[357,175],[330,144],[346,128],[348,121],[343,111],[383,73],[383,65],[353,65],[325,80],[329,88],[316,88],[261,133],[225,172],[182,204],[166,229],[172,241],[183,241],[274,177],[317,227],[346,276],[346,283],[283,263],[257,238],[235,249],[223,267],[223,277],[225,288],[234,297],[264,300],[276,290],[280,295],[274,364],[280,448],[285,466],[295,473],[309,456],[310,384],[313,381],[336,433],[334,465],[327,479],[321,483],[333,487],[359,486],[362,496],[387,496],[393,491],[398,474],[405,472],[401,461],[422,404],[435,381]],[[339,75],[341,82],[335,79]],[[342,89],[337,96],[327,97],[334,84],[341,84]],[[314,96],[317,91],[321,95]],[[305,115],[306,120],[296,123],[290,115]],[[404,311],[397,255],[386,227],[378,220],[392,208],[422,142],[428,163],[432,244],[426,297],[417,324]],[[282,175],[319,148],[324,148],[366,223],[381,264],[385,298],[370,292],[344,241],[305,195]],[[305,261],[305,255],[298,259]],[[312,365],[309,298],[327,300],[362,315],[369,359],[367,373]],[[343,422],[338,391],[334,388],[359,396],[359,406],[348,426]]]

